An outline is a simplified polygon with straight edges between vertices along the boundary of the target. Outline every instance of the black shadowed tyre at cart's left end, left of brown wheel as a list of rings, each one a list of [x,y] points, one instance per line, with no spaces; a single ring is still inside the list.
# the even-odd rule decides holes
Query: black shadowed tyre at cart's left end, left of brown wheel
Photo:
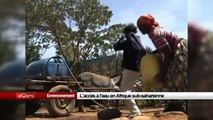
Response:
[[[41,104],[39,103],[39,101],[35,101],[35,100],[26,100],[25,101],[25,115],[26,116],[34,114],[40,108],[41,108]]]

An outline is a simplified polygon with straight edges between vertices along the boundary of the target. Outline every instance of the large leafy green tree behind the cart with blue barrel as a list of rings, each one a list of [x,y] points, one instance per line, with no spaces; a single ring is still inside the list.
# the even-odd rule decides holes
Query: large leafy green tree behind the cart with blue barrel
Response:
[[[112,11],[98,0],[27,0],[26,5],[29,40],[41,48],[60,43],[57,54],[63,51],[72,66],[106,55],[124,27],[108,26]]]

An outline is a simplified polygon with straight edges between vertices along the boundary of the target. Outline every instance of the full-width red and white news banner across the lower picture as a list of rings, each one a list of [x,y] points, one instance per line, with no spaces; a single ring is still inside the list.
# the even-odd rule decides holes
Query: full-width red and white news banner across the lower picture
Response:
[[[213,92],[0,92],[0,100],[213,100]]]

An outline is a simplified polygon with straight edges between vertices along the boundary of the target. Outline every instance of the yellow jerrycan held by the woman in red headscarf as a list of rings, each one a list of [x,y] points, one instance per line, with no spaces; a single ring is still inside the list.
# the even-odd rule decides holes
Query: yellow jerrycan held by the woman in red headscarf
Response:
[[[145,88],[159,89],[163,87],[163,83],[155,79],[155,76],[160,73],[160,59],[156,55],[147,54],[141,59],[140,72]]]

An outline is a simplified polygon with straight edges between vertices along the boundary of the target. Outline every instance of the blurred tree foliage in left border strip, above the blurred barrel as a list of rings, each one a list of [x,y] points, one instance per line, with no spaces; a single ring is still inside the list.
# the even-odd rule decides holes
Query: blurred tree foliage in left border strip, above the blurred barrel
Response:
[[[24,44],[24,1],[1,0],[0,65],[18,57],[16,48]],[[20,49],[20,48],[19,48]],[[24,48],[21,48],[24,50]]]

